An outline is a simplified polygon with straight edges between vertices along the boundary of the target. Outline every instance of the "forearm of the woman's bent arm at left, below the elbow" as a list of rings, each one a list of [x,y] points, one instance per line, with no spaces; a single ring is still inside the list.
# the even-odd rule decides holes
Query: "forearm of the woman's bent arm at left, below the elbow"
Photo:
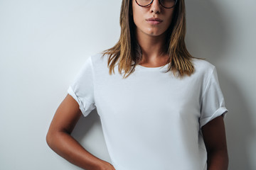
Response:
[[[82,169],[100,170],[100,165],[106,163],[87,152],[78,141],[66,132],[55,132],[48,139],[50,139],[48,145],[54,152]]]

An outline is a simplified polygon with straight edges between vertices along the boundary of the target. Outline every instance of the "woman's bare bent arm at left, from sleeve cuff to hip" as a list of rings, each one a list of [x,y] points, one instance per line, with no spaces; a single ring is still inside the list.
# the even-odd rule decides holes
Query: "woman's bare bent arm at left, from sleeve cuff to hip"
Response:
[[[86,170],[115,170],[109,162],[87,152],[70,133],[75,128],[80,115],[79,105],[69,94],[58,107],[46,135],[50,149],[68,162]]]

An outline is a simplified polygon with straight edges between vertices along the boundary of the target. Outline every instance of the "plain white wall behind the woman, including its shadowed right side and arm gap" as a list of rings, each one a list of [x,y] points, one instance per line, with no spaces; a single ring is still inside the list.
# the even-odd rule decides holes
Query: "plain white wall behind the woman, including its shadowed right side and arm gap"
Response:
[[[121,1],[0,0],[0,169],[80,169],[46,132],[87,57],[119,38]],[[188,50],[215,64],[225,97],[229,169],[256,169],[256,1],[186,1]],[[110,162],[99,116],[73,136]]]

